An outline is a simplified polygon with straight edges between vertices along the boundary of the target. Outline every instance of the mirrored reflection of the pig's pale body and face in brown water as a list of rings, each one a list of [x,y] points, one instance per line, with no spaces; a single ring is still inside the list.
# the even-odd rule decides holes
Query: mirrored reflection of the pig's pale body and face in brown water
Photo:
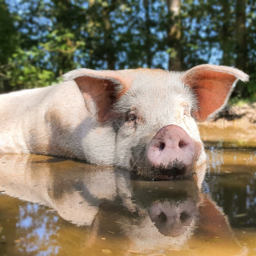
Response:
[[[184,248],[205,200],[200,182],[192,178],[148,182],[112,167],[45,156],[5,155],[0,160],[5,193],[49,205],[65,220],[88,227],[86,246],[112,232],[128,238],[129,250]]]

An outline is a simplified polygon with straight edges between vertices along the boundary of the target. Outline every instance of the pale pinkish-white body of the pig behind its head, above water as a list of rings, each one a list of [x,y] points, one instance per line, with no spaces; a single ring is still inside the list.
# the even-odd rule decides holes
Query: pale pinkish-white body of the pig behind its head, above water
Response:
[[[74,81],[0,95],[0,109],[1,152],[113,164],[113,127],[93,118]]]

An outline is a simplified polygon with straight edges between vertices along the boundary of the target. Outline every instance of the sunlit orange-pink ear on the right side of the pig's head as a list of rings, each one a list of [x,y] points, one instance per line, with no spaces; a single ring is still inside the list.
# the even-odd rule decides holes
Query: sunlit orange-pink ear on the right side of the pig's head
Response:
[[[189,69],[181,79],[194,90],[198,100],[194,115],[198,121],[204,121],[225,106],[233,84],[239,79],[248,81],[249,76],[237,68],[205,64]]]

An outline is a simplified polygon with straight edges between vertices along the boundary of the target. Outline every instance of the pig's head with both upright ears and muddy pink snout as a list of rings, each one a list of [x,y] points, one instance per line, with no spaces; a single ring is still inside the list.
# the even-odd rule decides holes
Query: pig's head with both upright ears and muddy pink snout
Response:
[[[114,164],[158,179],[195,173],[205,161],[196,121],[220,111],[234,84],[248,80],[236,68],[216,65],[186,72],[81,68],[64,77],[76,81],[99,125],[113,126]]]

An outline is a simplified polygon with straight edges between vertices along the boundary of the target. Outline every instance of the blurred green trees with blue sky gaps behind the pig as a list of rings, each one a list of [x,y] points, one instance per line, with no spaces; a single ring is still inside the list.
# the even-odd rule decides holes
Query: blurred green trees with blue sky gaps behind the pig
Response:
[[[256,100],[255,0],[0,0],[0,92],[47,86],[74,68],[250,75],[234,97]]]

